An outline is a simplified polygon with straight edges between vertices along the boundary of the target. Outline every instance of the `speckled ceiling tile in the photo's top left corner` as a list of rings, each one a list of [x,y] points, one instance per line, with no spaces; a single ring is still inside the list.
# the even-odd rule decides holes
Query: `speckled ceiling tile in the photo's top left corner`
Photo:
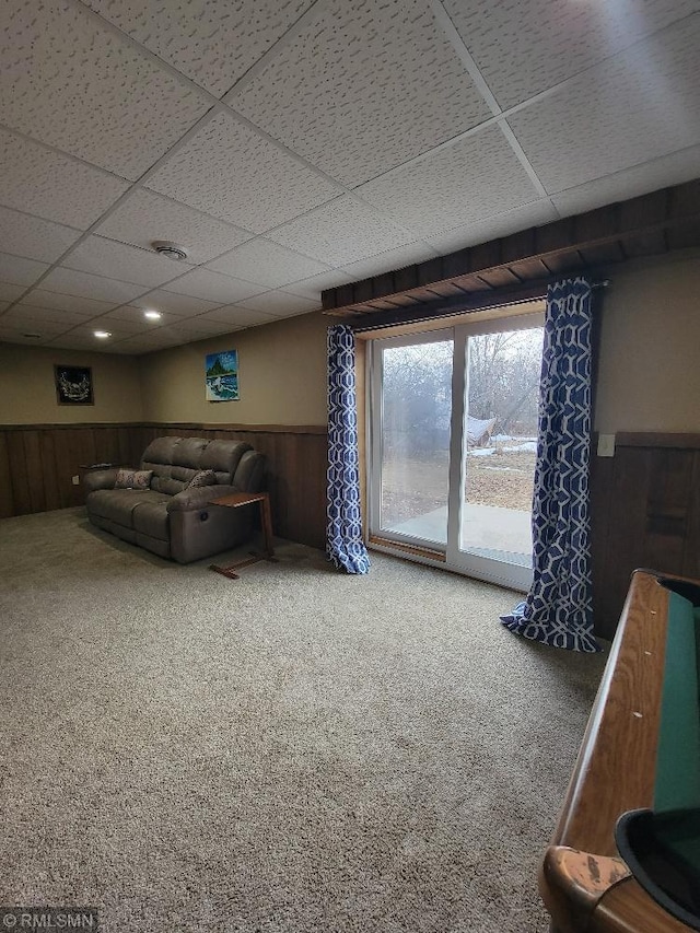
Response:
[[[88,10],[7,0],[0,121],[132,180],[210,108]]]

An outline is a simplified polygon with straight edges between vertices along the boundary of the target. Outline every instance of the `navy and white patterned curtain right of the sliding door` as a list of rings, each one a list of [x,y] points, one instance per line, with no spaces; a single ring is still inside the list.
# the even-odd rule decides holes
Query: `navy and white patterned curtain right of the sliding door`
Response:
[[[533,585],[501,620],[525,638],[599,651],[593,635],[588,460],[591,285],[550,285],[533,498]]]

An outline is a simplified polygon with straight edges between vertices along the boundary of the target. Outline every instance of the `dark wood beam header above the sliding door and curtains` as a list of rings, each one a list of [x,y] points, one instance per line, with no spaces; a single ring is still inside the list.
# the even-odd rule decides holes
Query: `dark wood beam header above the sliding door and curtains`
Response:
[[[361,326],[417,320],[541,296],[563,273],[691,246],[700,246],[700,178],[327,289],[322,302]]]

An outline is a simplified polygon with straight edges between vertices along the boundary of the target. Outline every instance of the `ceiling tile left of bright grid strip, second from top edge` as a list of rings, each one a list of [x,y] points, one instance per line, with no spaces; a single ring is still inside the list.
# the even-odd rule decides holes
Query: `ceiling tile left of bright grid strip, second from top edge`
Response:
[[[483,220],[538,197],[497,126],[369,182],[358,194],[418,236]]]

